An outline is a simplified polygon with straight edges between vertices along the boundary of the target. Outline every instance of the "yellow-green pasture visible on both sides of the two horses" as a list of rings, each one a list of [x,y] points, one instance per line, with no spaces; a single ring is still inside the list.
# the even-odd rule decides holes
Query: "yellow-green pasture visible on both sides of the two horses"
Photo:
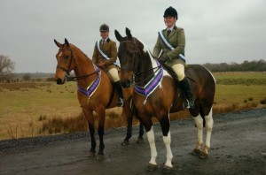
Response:
[[[265,108],[260,102],[266,98],[266,73],[222,72],[214,76],[217,82],[214,113]],[[74,82],[65,85],[55,82],[0,84],[0,140],[43,134],[38,132],[39,128],[43,120],[49,118],[80,116],[82,110],[76,89]],[[121,116],[121,109],[109,111]]]

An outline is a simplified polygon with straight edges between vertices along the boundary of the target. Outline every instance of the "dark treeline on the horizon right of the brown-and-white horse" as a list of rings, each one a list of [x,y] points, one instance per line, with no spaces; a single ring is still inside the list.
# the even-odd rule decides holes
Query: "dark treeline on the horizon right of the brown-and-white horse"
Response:
[[[220,64],[203,64],[211,72],[266,72],[266,62],[262,59],[259,61],[244,61],[237,63],[220,63]]]

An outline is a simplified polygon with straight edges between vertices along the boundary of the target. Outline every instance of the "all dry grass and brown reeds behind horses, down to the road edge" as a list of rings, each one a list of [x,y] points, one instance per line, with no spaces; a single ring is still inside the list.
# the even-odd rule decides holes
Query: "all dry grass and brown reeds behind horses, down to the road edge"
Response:
[[[219,77],[220,76],[220,77]],[[215,74],[218,80],[228,80],[231,73]],[[265,79],[266,75],[239,73],[237,79]],[[223,81],[225,82],[225,81]],[[265,108],[265,85],[217,84],[214,114],[229,111]],[[256,82],[260,82],[257,80]],[[76,84],[68,82],[59,86],[51,82],[0,84],[0,140],[34,137],[57,133],[73,133],[88,130],[76,97]],[[170,115],[171,120],[191,118],[188,110]],[[154,118],[154,122],[157,120]],[[134,119],[134,125],[138,125]],[[95,126],[98,117],[95,115]],[[106,128],[126,126],[121,108],[106,110]]]

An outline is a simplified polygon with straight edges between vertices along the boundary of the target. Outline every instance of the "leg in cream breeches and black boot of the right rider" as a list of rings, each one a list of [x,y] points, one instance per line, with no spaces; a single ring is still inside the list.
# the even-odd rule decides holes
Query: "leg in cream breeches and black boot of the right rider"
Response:
[[[188,108],[195,109],[195,104],[192,95],[192,87],[190,85],[189,80],[187,80],[187,78],[184,76],[184,65],[176,64],[172,66],[172,69],[174,70],[174,72],[176,72],[179,85],[182,88],[186,99],[188,100]]]

